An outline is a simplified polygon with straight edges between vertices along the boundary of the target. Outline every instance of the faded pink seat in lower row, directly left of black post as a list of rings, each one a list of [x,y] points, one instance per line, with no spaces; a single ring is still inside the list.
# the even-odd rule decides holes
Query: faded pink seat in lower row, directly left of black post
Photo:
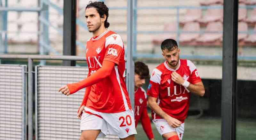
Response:
[[[210,22],[205,28],[205,32],[202,36],[196,39],[198,44],[201,45],[220,45],[217,41],[222,38],[222,33],[207,33],[207,32],[221,32],[223,30],[223,25],[221,22]]]

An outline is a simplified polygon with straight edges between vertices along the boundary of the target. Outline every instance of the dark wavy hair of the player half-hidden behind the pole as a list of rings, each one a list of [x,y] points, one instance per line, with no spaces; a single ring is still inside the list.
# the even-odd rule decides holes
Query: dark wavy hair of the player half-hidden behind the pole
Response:
[[[149,78],[149,69],[148,66],[143,62],[135,62],[134,63],[135,74],[140,75],[140,79]]]

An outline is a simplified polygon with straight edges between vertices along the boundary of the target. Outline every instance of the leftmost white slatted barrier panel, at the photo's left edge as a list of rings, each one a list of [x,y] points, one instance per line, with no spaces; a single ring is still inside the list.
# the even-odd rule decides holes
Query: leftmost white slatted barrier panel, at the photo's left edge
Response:
[[[0,65],[0,140],[26,140],[26,69]]]

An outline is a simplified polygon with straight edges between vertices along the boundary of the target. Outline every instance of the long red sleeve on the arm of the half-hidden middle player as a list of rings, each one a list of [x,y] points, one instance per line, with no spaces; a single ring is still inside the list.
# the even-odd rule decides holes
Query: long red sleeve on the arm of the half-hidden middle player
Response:
[[[150,119],[148,117],[147,105],[145,105],[143,107],[143,111],[141,113],[140,121],[141,121],[141,125],[142,125],[146,135],[148,136],[148,139],[154,138],[154,134],[153,134],[152,128],[151,128],[151,122],[150,122]]]

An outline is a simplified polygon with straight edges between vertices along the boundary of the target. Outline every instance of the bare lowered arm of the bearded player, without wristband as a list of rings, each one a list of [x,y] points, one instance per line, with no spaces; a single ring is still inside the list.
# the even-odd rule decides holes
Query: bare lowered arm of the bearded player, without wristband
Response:
[[[166,114],[162,110],[162,108],[159,105],[157,105],[156,100],[157,100],[156,97],[148,96],[148,105],[149,105],[149,107],[156,114],[158,114],[160,117],[162,117],[164,120],[166,120],[170,126],[172,126],[173,128],[179,127],[181,125],[181,121],[179,121],[179,120],[177,120],[175,118],[172,118],[171,116]]]

